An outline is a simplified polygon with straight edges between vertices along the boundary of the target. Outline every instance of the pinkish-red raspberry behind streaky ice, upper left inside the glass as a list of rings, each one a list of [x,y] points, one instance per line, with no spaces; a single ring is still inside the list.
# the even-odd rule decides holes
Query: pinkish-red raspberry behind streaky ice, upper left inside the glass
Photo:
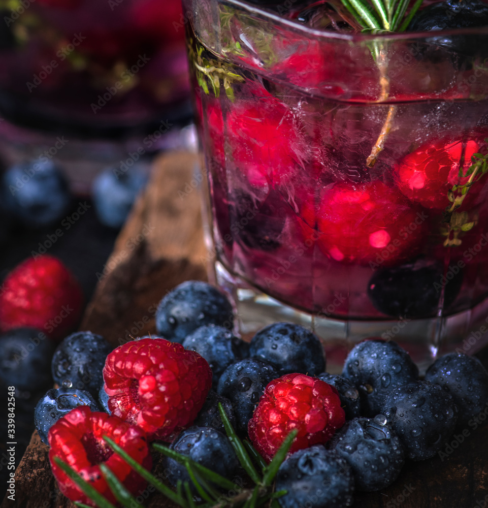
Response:
[[[227,139],[234,164],[254,187],[284,183],[294,173],[303,143],[294,115],[264,89],[254,102],[237,102],[227,117]]]

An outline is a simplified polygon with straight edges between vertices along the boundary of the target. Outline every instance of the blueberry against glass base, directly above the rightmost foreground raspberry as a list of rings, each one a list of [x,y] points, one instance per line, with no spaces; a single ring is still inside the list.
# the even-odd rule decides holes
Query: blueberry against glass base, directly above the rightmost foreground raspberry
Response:
[[[326,368],[319,338],[294,323],[273,323],[259,330],[251,339],[249,355],[273,364],[280,376],[292,372],[313,376]]]

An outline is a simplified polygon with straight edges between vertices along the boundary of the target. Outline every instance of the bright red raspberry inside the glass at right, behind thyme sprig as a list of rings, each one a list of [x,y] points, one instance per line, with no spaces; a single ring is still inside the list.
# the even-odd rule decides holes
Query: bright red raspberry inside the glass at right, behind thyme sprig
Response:
[[[406,155],[395,168],[395,180],[402,193],[427,208],[444,209],[450,204],[447,192],[454,184],[464,184],[469,177],[460,178],[471,166],[471,156],[486,145],[482,140],[434,141]],[[466,195],[468,206],[481,202],[484,180],[475,182]],[[482,194],[482,196],[481,196]]]

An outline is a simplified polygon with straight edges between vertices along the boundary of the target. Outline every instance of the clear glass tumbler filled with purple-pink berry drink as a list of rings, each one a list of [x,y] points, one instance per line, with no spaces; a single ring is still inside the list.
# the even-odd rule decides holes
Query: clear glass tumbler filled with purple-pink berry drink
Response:
[[[240,332],[310,326],[332,370],[366,337],[419,365],[476,352],[488,28],[374,36],[314,29],[292,9],[183,5],[213,275]]]

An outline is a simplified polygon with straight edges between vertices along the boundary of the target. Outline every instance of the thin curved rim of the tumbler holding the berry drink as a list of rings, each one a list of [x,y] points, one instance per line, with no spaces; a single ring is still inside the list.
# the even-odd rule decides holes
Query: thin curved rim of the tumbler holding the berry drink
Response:
[[[390,34],[339,34],[333,31],[328,31],[325,29],[317,29],[311,28],[303,23],[299,23],[297,21],[284,18],[279,14],[275,14],[270,11],[266,11],[258,6],[254,6],[251,4],[247,4],[245,2],[241,2],[240,0],[212,0],[221,5],[229,5],[232,7],[237,7],[240,10],[247,11],[249,13],[257,14],[261,17],[267,18],[270,21],[275,23],[279,23],[285,25],[289,28],[294,29],[295,31],[302,32],[304,35],[313,36],[314,38],[321,39],[337,39],[342,41],[349,42],[369,42],[373,40],[380,41],[398,41],[398,40],[411,40],[411,39],[432,39],[439,36],[446,35],[485,35],[488,37],[488,25],[474,27],[474,28],[451,28],[449,30],[431,30],[431,31],[413,31],[413,32],[401,32],[395,33],[392,32]],[[487,55],[488,56],[488,55]]]

